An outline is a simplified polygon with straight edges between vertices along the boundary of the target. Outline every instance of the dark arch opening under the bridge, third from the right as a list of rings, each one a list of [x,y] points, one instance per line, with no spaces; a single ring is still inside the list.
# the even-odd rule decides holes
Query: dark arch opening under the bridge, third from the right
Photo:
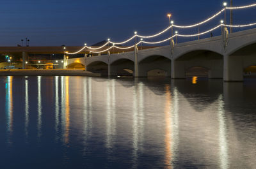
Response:
[[[155,70],[151,75],[164,75],[171,77],[171,60],[163,55],[148,55],[144,57],[138,64],[139,77],[148,77],[150,71]]]

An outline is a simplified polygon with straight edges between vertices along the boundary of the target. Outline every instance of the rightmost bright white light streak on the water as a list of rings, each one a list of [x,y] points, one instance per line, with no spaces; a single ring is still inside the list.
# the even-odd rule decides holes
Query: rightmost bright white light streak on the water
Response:
[[[218,121],[219,121],[219,149],[220,149],[220,168],[228,168],[228,144],[227,144],[227,126],[225,122],[225,110],[223,96],[218,98]]]

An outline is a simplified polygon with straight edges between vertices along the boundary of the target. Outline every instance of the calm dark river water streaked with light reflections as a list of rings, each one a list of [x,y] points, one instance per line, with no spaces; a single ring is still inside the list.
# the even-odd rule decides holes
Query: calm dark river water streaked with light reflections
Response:
[[[256,168],[255,86],[0,77],[0,168]]]

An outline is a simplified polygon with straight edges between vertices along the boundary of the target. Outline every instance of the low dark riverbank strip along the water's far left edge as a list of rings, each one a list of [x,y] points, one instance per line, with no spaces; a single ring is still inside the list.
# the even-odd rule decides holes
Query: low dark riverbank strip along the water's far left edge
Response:
[[[0,70],[0,76],[87,76],[100,77],[100,73],[84,70]]]

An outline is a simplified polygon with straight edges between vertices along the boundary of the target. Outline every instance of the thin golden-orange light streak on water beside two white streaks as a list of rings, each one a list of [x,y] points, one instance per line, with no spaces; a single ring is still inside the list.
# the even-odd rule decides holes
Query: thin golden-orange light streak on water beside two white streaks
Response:
[[[69,127],[70,127],[70,108],[69,108],[69,77],[66,77],[66,133],[65,133],[65,143],[68,143]]]

